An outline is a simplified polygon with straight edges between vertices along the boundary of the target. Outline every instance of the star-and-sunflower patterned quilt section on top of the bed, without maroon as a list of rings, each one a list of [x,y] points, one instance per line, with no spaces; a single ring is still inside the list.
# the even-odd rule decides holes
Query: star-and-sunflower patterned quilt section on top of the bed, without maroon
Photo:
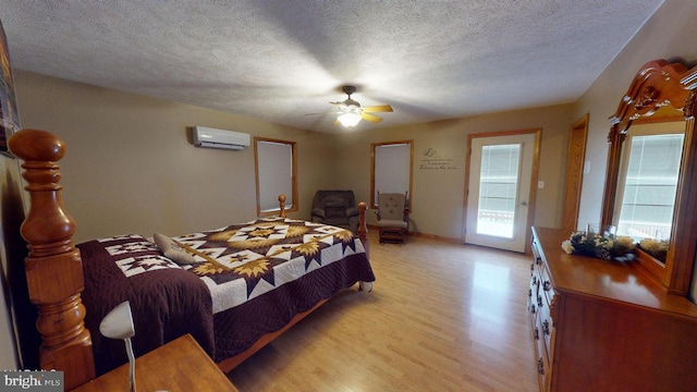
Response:
[[[182,267],[206,283],[213,314],[347,256],[365,254],[360,241],[347,230],[288,218],[259,219],[173,240],[195,256],[197,262]]]

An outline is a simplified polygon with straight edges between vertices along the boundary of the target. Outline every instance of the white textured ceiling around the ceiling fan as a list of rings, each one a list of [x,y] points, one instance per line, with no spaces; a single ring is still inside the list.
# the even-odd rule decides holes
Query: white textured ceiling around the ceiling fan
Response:
[[[319,132],[575,101],[662,0],[0,0],[15,69]]]

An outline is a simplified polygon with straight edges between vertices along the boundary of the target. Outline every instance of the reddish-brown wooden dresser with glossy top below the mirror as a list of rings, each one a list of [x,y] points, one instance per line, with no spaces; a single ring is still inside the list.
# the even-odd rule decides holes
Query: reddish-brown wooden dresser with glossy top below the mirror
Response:
[[[697,305],[635,262],[566,255],[533,229],[527,307],[541,391],[697,391]]]

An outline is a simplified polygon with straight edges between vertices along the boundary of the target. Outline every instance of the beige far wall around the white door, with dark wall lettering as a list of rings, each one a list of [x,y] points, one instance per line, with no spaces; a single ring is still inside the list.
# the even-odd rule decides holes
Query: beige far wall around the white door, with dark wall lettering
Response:
[[[535,224],[559,226],[563,204],[563,168],[566,164],[571,106],[522,110],[467,119],[396,126],[386,130],[344,132],[337,136],[341,146],[338,173],[356,197],[369,201],[370,144],[414,140],[414,183],[411,228],[416,232],[458,240],[463,235],[467,135],[482,132],[541,128],[539,180],[545,187],[537,192]],[[450,162],[448,169],[423,169],[428,166],[427,150]],[[368,215],[375,222],[375,215]]]

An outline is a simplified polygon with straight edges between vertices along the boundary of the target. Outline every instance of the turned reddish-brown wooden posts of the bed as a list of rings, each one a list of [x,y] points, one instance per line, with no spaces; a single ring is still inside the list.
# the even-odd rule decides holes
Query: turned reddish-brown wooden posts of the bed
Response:
[[[46,131],[22,130],[9,139],[10,150],[24,161],[23,177],[29,210],[22,236],[29,249],[25,259],[29,299],[38,307],[37,330],[41,369],[64,371],[65,390],[95,378],[91,338],[85,328],[85,285],[80,250],[73,243],[75,222],[62,204],[60,167],[64,143]],[[279,196],[280,217],[285,217],[285,196]],[[368,252],[366,204],[358,204],[358,237]]]

